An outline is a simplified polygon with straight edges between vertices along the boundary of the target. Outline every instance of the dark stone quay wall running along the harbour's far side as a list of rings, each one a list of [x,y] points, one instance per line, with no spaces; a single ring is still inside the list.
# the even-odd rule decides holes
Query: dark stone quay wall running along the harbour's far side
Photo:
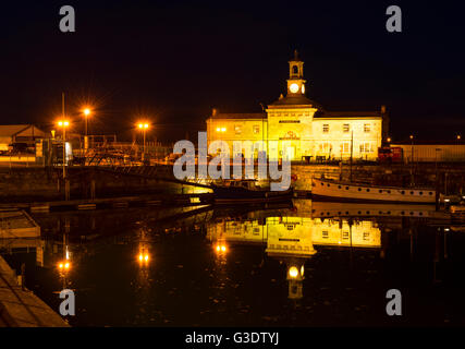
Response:
[[[152,178],[110,172],[108,168],[70,167],[70,200],[134,196],[142,194],[185,194],[207,190],[159,180],[174,179],[172,165],[158,166],[159,177]],[[311,178],[321,177],[348,180],[347,164],[292,164],[292,184],[297,191],[310,191]],[[465,193],[465,165],[377,165],[355,164],[352,179],[374,184],[408,185],[412,180],[419,186],[432,186],[441,193]],[[158,179],[157,179],[158,178]],[[64,200],[65,183],[61,168],[12,167],[0,168],[0,203],[45,202]]]

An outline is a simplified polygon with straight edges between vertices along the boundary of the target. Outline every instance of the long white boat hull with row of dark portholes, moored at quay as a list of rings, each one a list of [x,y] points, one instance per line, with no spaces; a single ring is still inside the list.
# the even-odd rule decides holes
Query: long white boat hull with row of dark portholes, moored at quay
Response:
[[[329,179],[311,180],[311,198],[343,202],[390,202],[435,204],[436,191],[431,188],[402,188],[338,182]]]

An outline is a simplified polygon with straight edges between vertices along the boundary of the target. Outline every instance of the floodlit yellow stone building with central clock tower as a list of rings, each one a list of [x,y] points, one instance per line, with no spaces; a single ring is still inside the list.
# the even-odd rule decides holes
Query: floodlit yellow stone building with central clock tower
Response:
[[[270,158],[287,156],[291,160],[348,159],[351,153],[355,159],[376,159],[388,131],[386,108],[326,111],[305,96],[305,84],[304,62],[295,51],[289,61],[285,96],[264,108],[262,113],[221,113],[213,109],[207,119],[208,145],[224,141],[235,155],[243,151],[233,148],[234,141],[252,141],[257,149],[265,144]]]

